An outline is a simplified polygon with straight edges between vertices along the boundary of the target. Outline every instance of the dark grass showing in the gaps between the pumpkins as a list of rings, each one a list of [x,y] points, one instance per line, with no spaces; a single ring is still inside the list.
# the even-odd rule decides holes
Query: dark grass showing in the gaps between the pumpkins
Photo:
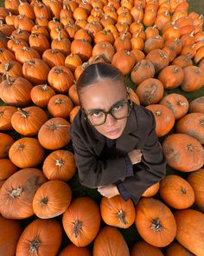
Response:
[[[1,0],[0,5],[3,6],[3,3],[4,2]],[[188,3],[190,5],[190,9],[189,9],[190,11],[195,11],[199,14],[203,14],[203,12],[204,12],[204,1],[191,0],[191,1],[188,1]],[[133,82],[131,82],[130,75],[126,76],[126,84],[128,84],[132,89],[136,89],[136,85]],[[178,94],[184,95],[188,99],[188,102],[191,102],[195,98],[204,95],[204,88],[196,90],[192,93],[184,92],[180,88],[165,91],[165,95],[170,94],[170,93],[178,93]],[[3,104],[4,104],[3,101],[1,101],[1,99],[0,99],[0,105],[3,105]],[[172,133],[172,132],[173,131],[171,131],[170,133]],[[11,132],[9,132],[9,134],[13,138],[15,138],[16,140],[21,137],[21,135],[18,135],[15,131],[11,131]],[[162,142],[163,139],[166,136],[160,138],[159,140]],[[70,142],[65,149],[70,150],[70,151],[73,152],[72,142]],[[47,154],[48,153],[49,152],[47,151]],[[41,168],[41,166],[39,168]],[[179,174],[179,175],[182,175],[183,177],[185,177],[185,175],[186,175],[185,173],[181,174],[181,173],[175,171],[171,167],[167,167],[167,174]],[[82,186],[80,184],[79,176],[78,176],[77,173],[73,176],[73,179],[71,181],[68,181],[67,183],[69,184],[69,186],[71,187],[71,189],[73,191],[73,198],[80,197],[80,196],[87,196],[87,197],[92,198],[92,200],[95,200],[99,205],[99,202],[101,200],[101,195],[98,193],[97,189],[90,189],[88,187]],[[29,224],[29,222],[31,222],[34,219],[35,219],[35,216],[32,216],[31,218],[29,218],[27,220],[21,220],[22,221],[22,226],[27,226]],[[56,219],[61,222],[61,216],[57,217]],[[103,221],[101,223],[101,226],[105,226],[105,223]],[[137,229],[135,228],[134,225],[132,225],[128,229],[120,229],[120,231],[121,231],[121,233],[123,233],[124,239],[126,240],[128,246],[130,248],[137,240],[141,239],[139,234],[137,233]],[[62,244],[61,244],[61,248],[66,246],[68,243],[69,243],[69,240],[67,239],[67,235],[63,231],[63,241],[62,241]],[[92,249],[92,244],[90,244],[89,247]]]

